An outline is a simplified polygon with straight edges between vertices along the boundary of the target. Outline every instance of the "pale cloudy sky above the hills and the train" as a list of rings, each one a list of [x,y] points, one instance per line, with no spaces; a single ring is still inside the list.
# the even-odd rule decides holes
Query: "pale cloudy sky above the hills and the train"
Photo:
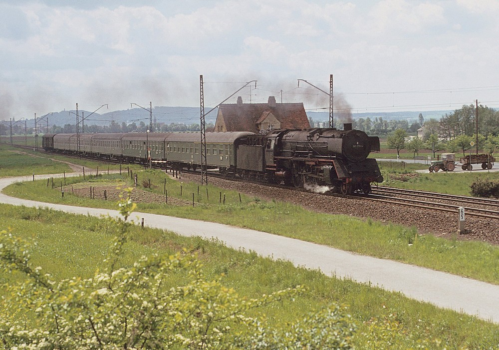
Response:
[[[245,102],[499,107],[497,0],[0,0],[0,119]],[[308,86],[308,87],[307,87]],[[344,101],[344,104],[340,104]]]

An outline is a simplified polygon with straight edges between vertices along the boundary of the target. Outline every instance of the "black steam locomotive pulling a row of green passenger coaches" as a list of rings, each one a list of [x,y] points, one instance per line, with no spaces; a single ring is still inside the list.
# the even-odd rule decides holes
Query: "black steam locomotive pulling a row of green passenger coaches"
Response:
[[[176,170],[201,166],[199,133],[110,133],[43,135],[46,151],[128,163],[153,162]],[[383,177],[375,159],[379,138],[352,130],[315,128],[251,132],[207,132],[207,167],[238,176],[295,187],[327,186],[343,194],[369,193]]]

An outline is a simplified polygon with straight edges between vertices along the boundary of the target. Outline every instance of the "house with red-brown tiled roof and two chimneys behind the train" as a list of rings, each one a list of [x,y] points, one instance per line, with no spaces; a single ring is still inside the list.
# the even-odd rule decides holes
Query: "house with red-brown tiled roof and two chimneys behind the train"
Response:
[[[276,103],[274,96],[267,103],[237,103],[219,106],[215,131],[250,131],[267,129],[307,129],[310,127],[303,103]]]

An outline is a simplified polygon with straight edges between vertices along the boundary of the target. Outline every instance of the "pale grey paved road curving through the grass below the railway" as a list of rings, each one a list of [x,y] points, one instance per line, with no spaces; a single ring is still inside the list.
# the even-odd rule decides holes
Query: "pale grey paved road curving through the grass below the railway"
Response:
[[[70,176],[66,174],[66,176]],[[40,175],[37,179],[58,177]],[[59,176],[60,177],[60,176]],[[13,182],[31,181],[31,176],[1,178],[0,191]],[[0,193],[0,203],[43,207],[83,215],[119,216],[117,210],[73,207],[12,198]],[[320,269],[327,276],[371,283],[389,291],[441,308],[477,316],[499,324],[499,286],[390,260],[377,259],[338,249],[248,229],[163,215],[134,213],[146,226],[184,236],[217,238],[234,249],[292,262],[295,266]]]

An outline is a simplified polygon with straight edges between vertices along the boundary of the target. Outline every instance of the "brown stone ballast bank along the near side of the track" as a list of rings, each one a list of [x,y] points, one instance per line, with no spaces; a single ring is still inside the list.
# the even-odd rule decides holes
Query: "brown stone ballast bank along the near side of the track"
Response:
[[[200,176],[183,172],[182,181],[199,182]],[[388,202],[381,202],[366,200],[363,196],[327,195],[297,191],[289,187],[215,177],[210,177],[209,183],[254,197],[290,202],[316,212],[371,218],[381,222],[416,227],[420,234],[455,237],[458,230],[457,209],[439,211],[424,206],[407,206],[390,199]],[[465,229],[466,233],[457,236],[458,239],[485,241],[499,245],[499,220],[467,215]]]

